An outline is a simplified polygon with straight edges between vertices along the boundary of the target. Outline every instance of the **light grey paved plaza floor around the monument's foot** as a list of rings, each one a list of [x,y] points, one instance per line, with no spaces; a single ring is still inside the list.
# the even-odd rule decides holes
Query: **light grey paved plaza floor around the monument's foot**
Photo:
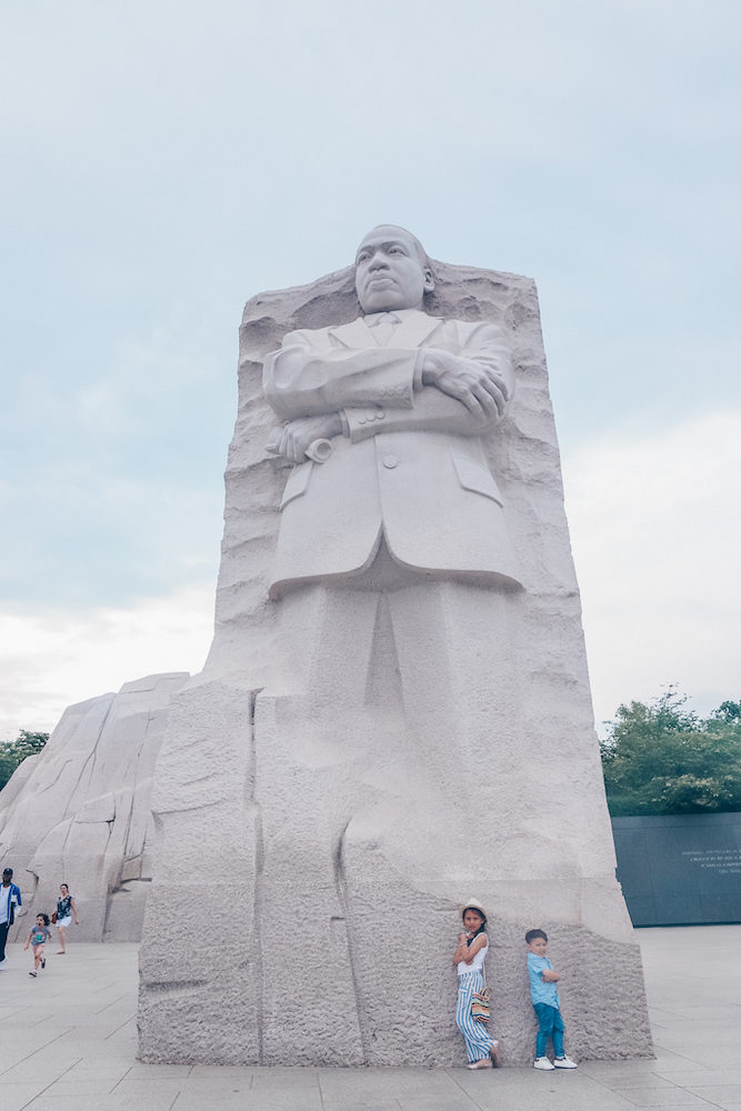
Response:
[[[657,1058],[577,1072],[140,1064],[137,945],[10,945],[0,1111],[741,1111],[741,925],[638,935]]]

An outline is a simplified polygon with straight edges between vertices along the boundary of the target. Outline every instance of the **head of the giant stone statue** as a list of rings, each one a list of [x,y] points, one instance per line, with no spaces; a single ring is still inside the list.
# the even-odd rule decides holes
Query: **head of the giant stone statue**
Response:
[[[392,223],[368,232],[356,254],[356,292],[363,312],[421,309],[433,289],[430,262],[415,236]]]

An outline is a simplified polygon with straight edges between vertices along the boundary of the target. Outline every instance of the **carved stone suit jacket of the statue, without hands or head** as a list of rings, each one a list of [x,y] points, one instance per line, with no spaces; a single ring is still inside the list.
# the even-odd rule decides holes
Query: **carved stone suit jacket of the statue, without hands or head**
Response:
[[[267,356],[263,389],[282,420],[340,412],[344,434],[323,463],[294,467],[281,501],[270,594],[362,573],[381,537],[421,572],[518,582],[503,500],[481,434],[497,421],[422,386],[420,350],[494,367],[513,388],[501,329],[398,310],[385,346],[363,317],[290,332]]]

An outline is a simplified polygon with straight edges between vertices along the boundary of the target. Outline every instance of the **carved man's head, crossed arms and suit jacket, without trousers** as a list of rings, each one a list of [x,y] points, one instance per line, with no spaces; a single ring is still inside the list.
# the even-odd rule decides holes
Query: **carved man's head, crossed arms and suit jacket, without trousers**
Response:
[[[492,323],[423,310],[434,288],[421,243],[380,226],[356,256],[363,316],[290,332],[264,361],[268,401],[286,424],[269,450],[298,464],[283,494],[270,592],[385,569],[518,581],[502,498],[481,434],[513,389]],[[307,459],[330,440],[323,462]],[[394,568],[398,569],[394,571]]]

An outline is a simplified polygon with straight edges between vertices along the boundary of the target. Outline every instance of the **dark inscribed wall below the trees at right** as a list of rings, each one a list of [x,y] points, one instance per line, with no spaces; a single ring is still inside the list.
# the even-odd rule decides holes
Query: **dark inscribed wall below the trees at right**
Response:
[[[613,818],[633,925],[741,922],[741,813]]]

